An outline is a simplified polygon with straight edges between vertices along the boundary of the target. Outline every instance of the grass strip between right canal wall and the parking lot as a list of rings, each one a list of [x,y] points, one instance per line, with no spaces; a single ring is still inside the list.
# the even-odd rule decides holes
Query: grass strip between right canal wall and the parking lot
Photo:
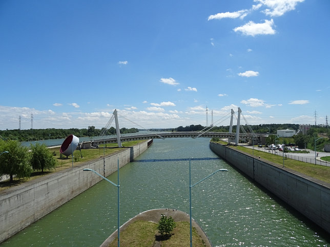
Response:
[[[224,145],[227,144],[226,142],[222,142],[222,141],[220,141],[218,143],[224,144]],[[229,146],[229,147],[238,149],[238,150],[248,153],[250,155],[252,155],[252,152],[253,152],[255,158],[259,158],[259,156],[260,156],[261,159],[271,161],[273,163],[283,166],[283,157],[282,156],[278,156],[276,154],[272,154],[272,153],[268,153],[268,152],[259,151],[257,149],[252,150],[250,148],[245,148],[242,146],[235,146],[235,147]],[[328,158],[330,158],[330,157],[328,157]],[[328,161],[330,161],[330,159]],[[326,183],[330,183],[330,167],[314,165],[314,164],[305,163],[305,162],[301,162],[301,161],[295,161],[295,160],[291,160],[291,159],[287,159],[287,158],[284,158],[284,166],[286,168],[292,169],[294,171],[301,172],[307,176],[311,176],[311,177],[317,178],[321,181],[324,181]]]

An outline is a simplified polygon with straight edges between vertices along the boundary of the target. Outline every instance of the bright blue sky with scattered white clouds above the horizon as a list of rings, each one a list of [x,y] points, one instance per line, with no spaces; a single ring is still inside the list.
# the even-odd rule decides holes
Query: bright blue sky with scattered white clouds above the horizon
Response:
[[[2,0],[0,129],[325,124],[329,26],[328,0]]]

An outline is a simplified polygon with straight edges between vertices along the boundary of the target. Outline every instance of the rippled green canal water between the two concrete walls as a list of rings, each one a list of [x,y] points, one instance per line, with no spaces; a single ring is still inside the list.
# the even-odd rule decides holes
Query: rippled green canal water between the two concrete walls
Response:
[[[189,213],[213,246],[329,246],[326,234],[218,158],[209,139],[154,140],[120,174],[120,224],[140,212],[170,208]],[[117,182],[117,173],[108,177]],[[117,188],[101,181],[31,224],[2,246],[99,246],[117,228]]]

